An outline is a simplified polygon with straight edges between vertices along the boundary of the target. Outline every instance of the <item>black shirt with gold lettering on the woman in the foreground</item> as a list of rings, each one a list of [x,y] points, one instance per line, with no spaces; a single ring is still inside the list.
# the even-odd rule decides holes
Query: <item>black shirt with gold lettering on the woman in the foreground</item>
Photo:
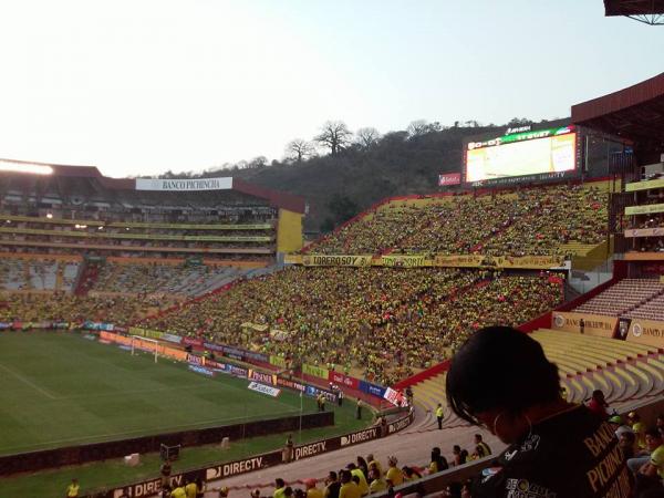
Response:
[[[584,406],[541,421],[473,485],[473,498],[627,498],[613,427]]]

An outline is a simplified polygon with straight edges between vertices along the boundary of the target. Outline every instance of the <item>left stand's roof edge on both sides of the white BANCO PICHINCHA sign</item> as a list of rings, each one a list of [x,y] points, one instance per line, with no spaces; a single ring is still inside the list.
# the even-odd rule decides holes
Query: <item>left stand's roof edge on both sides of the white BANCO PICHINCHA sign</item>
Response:
[[[68,178],[90,178],[98,181],[104,188],[115,190],[135,190],[136,180],[133,178],[110,178],[103,176],[96,166],[70,166],[62,164],[51,163],[35,163],[28,160],[17,159],[2,159],[0,158],[0,165],[9,165],[12,168],[9,174],[30,174],[34,173],[32,169],[35,167],[50,168],[52,172],[50,176],[68,177]],[[24,170],[22,170],[24,169]],[[7,170],[6,170],[7,172]],[[0,167],[0,173],[2,168]],[[7,174],[7,173],[6,173]],[[303,197],[286,194],[270,188],[259,187],[258,185],[249,184],[239,178],[232,178],[232,190],[245,194],[248,196],[257,197],[269,201],[272,206],[278,208],[288,209],[293,212],[304,214],[305,201]]]

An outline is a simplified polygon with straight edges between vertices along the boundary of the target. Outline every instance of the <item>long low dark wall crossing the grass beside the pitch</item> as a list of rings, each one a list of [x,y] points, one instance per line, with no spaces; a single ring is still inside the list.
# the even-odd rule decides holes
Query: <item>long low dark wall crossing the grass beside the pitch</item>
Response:
[[[334,425],[334,413],[314,413],[302,415],[302,428],[318,428]],[[17,473],[37,471],[64,465],[81,465],[89,461],[120,458],[132,453],[159,452],[160,445],[200,446],[220,443],[225,437],[239,440],[245,437],[268,436],[272,434],[298,430],[300,415],[249,422],[196,430],[157,434],[132,439],[112,440],[90,445],[69,446],[56,449],[6,455],[0,457],[0,476]]]

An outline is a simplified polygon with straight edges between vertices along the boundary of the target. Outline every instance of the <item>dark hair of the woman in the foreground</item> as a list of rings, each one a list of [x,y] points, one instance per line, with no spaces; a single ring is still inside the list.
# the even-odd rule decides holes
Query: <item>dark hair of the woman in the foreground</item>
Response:
[[[539,342],[510,326],[487,326],[454,355],[446,382],[449,406],[479,425],[477,414],[494,408],[512,414],[560,398],[558,366]]]

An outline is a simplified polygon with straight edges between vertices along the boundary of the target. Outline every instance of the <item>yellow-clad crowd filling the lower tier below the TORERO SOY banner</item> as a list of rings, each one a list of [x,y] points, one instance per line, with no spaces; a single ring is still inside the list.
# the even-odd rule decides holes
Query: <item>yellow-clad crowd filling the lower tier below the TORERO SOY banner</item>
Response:
[[[520,324],[561,300],[546,276],[295,267],[141,323],[391,384],[448,357],[483,324]]]

